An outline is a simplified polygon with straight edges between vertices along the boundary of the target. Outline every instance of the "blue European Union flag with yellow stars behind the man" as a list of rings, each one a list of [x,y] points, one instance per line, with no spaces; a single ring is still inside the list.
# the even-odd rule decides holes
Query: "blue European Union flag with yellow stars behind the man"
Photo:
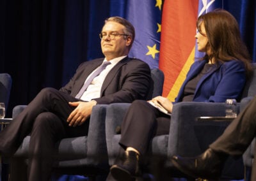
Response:
[[[129,53],[158,68],[162,0],[129,0],[127,20],[135,27],[135,40]]]

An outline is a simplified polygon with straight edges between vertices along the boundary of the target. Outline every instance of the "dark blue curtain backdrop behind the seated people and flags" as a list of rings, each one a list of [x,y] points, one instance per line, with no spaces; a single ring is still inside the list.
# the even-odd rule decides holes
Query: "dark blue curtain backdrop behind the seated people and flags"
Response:
[[[43,87],[59,89],[81,62],[102,57],[99,33],[104,20],[126,18],[129,1],[0,0],[0,73],[13,78],[8,116]],[[256,62],[255,0],[221,3],[237,18]]]

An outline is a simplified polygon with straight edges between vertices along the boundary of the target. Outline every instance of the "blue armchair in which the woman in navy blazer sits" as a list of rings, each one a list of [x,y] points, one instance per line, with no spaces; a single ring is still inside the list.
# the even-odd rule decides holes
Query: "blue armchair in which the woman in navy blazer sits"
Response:
[[[254,64],[254,75],[252,80],[246,83],[243,98],[256,95],[256,66]],[[109,154],[109,164],[113,164],[117,156],[120,145],[120,134],[116,133],[116,127],[122,124],[124,114],[129,104],[112,104],[106,111],[106,139]],[[224,103],[198,103],[182,102],[173,106],[172,122],[170,124],[170,133],[156,136],[150,144],[152,156],[157,156],[162,161],[152,168],[145,168],[149,173],[155,174],[155,177],[163,180],[170,177],[186,177],[168,161],[168,157],[173,155],[197,156],[208,148],[218,136],[220,136],[228,122],[198,122],[197,117],[202,116],[225,116]],[[154,157],[153,157],[154,158]],[[157,173],[156,171],[159,171]],[[244,166],[242,157],[234,160],[228,158],[223,169],[221,178],[241,179],[244,177]]]

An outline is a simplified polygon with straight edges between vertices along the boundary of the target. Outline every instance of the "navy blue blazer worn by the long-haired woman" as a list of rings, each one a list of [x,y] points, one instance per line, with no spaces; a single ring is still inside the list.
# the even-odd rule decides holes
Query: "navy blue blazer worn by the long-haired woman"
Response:
[[[182,101],[184,87],[194,78],[207,61],[196,61],[189,69],[186,80],[180,88],[175,103]],[[205,74],[196,85],[193,101],[225,102],[227,98],[239,99],[246,83],[246,70],[242,61],[227,61]]]

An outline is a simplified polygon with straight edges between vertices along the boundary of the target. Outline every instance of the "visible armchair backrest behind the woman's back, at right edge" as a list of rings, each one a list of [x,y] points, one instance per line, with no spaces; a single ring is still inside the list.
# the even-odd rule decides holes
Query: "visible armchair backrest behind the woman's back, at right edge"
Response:
[[[253,75],[250,78],[250,80],[246,82],[246,85],[244,87],[244,91],[242,94],[242,98],[256,95],[256,63],[253,63],[252,66],[253,66]]]

